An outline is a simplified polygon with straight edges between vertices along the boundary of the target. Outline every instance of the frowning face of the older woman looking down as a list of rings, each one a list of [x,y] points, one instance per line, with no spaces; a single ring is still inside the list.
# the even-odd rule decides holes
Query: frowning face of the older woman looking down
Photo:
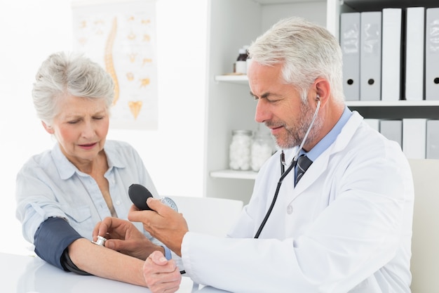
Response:
[[[43,124],[53,134],[62,153],[76,167],[88,164],[104,149],[109,128],[109,112],[104,98],[67,96],[59,100],[53,124]]]

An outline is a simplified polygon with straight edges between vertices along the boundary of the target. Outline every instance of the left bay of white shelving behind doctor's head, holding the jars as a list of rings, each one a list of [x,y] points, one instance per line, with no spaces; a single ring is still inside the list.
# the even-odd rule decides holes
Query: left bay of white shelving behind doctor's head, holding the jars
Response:
[[[249,45],[281,18],[299,15],[326,24],[325,0],[210,0],[208,24],[208,84],[205,111],[205,171],[207,197],[248,202],[256,173],[230,171],[231,131],[255,131],[255,99],[247,77],[233,72],[238,49]]]

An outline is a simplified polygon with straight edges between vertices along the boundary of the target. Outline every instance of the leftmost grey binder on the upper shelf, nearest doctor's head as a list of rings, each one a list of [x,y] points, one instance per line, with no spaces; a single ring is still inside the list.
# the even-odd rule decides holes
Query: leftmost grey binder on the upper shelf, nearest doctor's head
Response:
[[[360,100],[360,13],[340,15],[343,90],[346,100]]]

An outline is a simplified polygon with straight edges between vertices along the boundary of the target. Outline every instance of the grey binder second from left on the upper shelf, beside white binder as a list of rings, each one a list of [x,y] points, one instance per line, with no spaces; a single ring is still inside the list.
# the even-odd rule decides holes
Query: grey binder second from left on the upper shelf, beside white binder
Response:
[[[360,100],[381,100],[381,11],[361,13]]]

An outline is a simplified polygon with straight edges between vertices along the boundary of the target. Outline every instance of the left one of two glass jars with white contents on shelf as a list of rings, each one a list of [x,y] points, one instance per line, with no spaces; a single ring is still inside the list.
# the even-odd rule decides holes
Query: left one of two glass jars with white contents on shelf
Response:
[[[229,145],[229,167],[232,170],[250,170],[250,148],[252,145],[251,130],[231,131]]]

